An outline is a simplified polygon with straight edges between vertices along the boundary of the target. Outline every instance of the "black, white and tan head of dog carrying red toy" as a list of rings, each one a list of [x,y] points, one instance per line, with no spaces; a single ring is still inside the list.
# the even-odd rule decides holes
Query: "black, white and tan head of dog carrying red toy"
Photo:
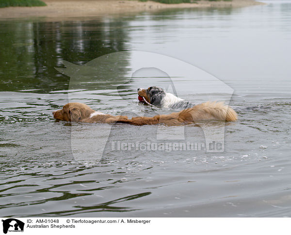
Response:
[[[137,94],[139,96],[138,99],[140,102],[145,103],[145,98],[148,103],[157,107],[161,107],[162,99],[165,97],[166,92],[160,87],[152,86],[147,88],[147,90],[138,88]]]

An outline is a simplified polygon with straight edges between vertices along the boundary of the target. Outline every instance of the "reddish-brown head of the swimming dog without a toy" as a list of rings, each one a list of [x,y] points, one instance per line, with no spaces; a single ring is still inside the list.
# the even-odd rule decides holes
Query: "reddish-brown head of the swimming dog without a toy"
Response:
[[[89,106],[81,103],[68,103],[63,109],[53,111],[53,117],[57,120],[67,122],[79,122],[84,118],[90,117],[95,112]]]

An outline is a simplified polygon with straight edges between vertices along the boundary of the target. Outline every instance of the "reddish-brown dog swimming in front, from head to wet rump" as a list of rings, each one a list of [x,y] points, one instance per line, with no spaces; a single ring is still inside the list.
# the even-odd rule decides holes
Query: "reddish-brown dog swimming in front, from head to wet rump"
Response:
[[[113,116],[92,110],[82,103],[68,103],[63,109],[53,111],[56,120],[82,123],[126,123],[130,125],[187,125],[203,120],[236,121],[237,113],[223,102],[206,102],[192,108],[173,112],[171,114],[156,115],[154,117]]]

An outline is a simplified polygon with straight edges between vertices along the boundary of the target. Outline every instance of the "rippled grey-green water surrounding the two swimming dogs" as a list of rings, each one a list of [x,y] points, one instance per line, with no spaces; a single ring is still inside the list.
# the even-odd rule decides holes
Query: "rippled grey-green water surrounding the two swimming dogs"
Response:
[[[268,3],[1,21],[1,216],[291,216],[291,1]],[[168,78],[130,78],[130,55],[114,64],[119,71],[100,69],[94,83],[72,82],[54,69],[64,68],[63,60],[83,65],[124,50],[179,59],[233,88],[230,104],[239,121],[226,124],[223,153],[118,151],[110,141],[155,142],[158,128],[173,138],[176,127],[114,125],[100,160],[76,159],[71,137],[81,141],[85,133],[98,141],[109,125],[55,122],[51,111],[68,98],[114,115],[173,111],[138,104],[136,88],[162,86]],[[181,74],[173,78],[180,80],[180,97],[199,103],[216,95],[196,91]],[[221,125],[189,125],[185,136],[203,142],[203,128]]]

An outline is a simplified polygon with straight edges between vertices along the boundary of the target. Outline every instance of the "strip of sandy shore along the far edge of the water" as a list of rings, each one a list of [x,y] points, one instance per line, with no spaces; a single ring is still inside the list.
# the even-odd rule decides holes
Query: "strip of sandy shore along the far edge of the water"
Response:
[[[244,7],[263,4],[254,0],[205,1],[197,3],[162,4],[154,1],[137,0],[44,0],[44,7],[0,8],[0,18],[46,16],[65,18],[80,16],[104,16],[142,11],[156,11],[166,8]]]

